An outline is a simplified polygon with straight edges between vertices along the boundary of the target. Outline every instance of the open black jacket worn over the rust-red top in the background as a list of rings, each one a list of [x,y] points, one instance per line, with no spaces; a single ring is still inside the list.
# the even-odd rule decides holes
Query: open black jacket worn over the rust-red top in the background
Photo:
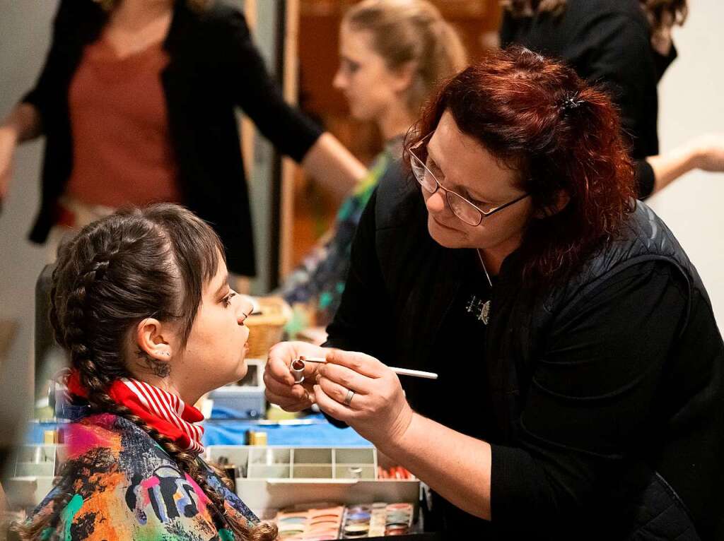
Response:
[[[45,242],[56,222],[56,203],[72,171],[70,82],[83,48],[98,38],[106,20],[95,1],[62,0],[46,64],[23,98],[38,109],[46,135],[41,209],[30,233],[34,242]],[[321,129],[285,103],[237,9],[212,2],[195,12],[178,0],[164,48],[170,60],[161,83],[183,202],[214,226],[229,269],[253,276],[251,211],[235,107],[296,161]]]

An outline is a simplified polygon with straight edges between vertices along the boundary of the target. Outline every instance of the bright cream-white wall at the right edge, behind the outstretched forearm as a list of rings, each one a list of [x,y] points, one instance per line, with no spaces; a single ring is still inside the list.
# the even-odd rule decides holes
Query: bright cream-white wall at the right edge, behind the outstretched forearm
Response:
[[[704,132],[724,134],[724,2],[689,0],[675,30],[678,59],[659,85],[662,152]],[[724,174],[692,171],[649,200],[707,286],[724,329]]]

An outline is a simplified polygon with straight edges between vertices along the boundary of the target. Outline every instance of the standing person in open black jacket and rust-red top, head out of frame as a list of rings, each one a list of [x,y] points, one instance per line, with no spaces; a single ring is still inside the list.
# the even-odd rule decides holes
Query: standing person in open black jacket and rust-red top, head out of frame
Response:
[[[237,9],[216,0],[62,0],[38,82],[0,126],[0,199],[17,143],[45,135],[31,240],[45,242],[59,223],[79,229],[116,206],[166,199],[212,223],[232,273],[253,276],[237,106],[337,191],[365,173],[283,101]],[[163,189],[144,192],[146,179]]]

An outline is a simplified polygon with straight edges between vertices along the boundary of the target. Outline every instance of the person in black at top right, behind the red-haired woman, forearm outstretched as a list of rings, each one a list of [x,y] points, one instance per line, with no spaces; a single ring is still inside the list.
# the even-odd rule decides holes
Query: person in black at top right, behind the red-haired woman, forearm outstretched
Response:
[[[604,85],[620,109],[644,199],[693,169],[724,171],[724,137],[704,135],[659,151],[657,85],[676,59],[671,37],[686,0],[509,0],[500,45],[566,61]]]

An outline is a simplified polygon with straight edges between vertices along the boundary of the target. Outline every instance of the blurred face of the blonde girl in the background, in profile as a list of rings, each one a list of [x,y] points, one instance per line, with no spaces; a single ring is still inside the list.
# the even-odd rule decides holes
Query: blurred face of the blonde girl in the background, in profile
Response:
[[[369,30],[353,30],[342,24],[340,68],[333,84],[344,93],[355,119],[379,122],[391,107],[400,106],[409,80],[387,69],[371,43]]]

